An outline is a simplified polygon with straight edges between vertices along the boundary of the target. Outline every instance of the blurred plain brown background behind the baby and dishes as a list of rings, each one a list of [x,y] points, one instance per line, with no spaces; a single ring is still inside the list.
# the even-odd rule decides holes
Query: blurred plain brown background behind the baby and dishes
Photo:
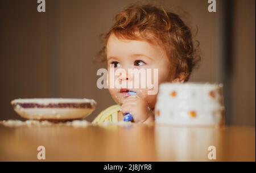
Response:
[[[16,98],[91,98],[96,111],[114,104],[96,86],[93,64],[114,15],[130,3],[153,3],[180,14],[200,41],[201,66],[190,81],[222,82],[226,124],[255,126],[255,1],[0,0],[0,120],[20,119]]]

